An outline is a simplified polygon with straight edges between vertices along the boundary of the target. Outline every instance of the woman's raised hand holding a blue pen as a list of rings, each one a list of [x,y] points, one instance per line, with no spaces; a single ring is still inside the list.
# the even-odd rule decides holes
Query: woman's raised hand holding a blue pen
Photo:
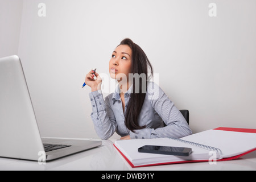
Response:
[[[96,80],[94,79],[94,75],[96,76]],[[98,75],[98,73],[94,73],[94,71],[90,71],[86,77],[85,77],[85,84],[90,86],[90,88],[92,88],[92,92],[96,91],[96,90],[100,90],[101,89],[101,83],[102,83],[102,79],[100,77],[100,75]]]

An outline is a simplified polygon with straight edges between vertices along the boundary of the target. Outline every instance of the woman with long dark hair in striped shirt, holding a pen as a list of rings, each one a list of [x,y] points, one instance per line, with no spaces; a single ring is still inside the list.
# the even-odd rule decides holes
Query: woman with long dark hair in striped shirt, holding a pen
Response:
[[[93,71],[86,75],[85,84],[92,88],[89,93],[91,117],[101,139],[108,139],[115,132],[121,139],[181,138],[192,134],[174,103],[158,85],[148,82],[148,68],[152,73],[150,61],[141,47],[124,39],[109,61],[110,77],[118,81],[114,93],[104,101],[99,92],[102,80],[98,73],[95,73],[96,80]],[[134,75],[141,78],[136,80],[131,77]]]

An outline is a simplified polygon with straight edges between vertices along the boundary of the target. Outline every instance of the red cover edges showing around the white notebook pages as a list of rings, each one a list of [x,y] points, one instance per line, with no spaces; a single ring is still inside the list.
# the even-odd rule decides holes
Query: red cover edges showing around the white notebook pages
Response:
[[[222,130],[222,131],[234,131],[234,132],[243,132],[243,133],[256,133],[256,129],[240,129],[240,128],[232,128],[232,127],[218,127],[214,130]],[[167,163],[158,163],[158,164],[147,164],[147,165],[142,165],[142,166],[134,166],[133,163],[130,162],[129,159],[126,158],[126,156],[115,146],[114,147],[117,149],[118,152],[125,158],[125,160],[130,164],[131,167],[147,167],[147,166],[159,166],[159,165],[166,165],[166,164],[180,164],[180,163],[195,163],[195,162],[209,162],[209,160],[186,160],[186,161],[180,161],[180,162],[167,162]],[[241,156],[249,154],[250,152],[255,151],[256,148],[253,148],[250,151],[244,152],[243,154],[232,156],[230,158],[223,158],[216,160],[217,162],[220,161],[226,161],[226,160],[234,160],[241,158]]]

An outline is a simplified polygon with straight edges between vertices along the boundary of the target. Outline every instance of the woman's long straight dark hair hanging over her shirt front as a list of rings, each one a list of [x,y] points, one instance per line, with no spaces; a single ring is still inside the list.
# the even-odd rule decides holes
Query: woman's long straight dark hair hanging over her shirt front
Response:
[[[148,73],[153,74],[152,65],[150,61],[147,59],[146,54],[135,44],[131,39],[124,39],[120,43],[120,45],[127,45],[131,48],[132,56],[131,56],[131,73],[141,75],[142,73],[146,75],[146,90],[147,90],[147,81],[149,81],[150,77],[148,77]],[[148,72],[150,69],[150,72]],[[139,126],[139,114],[141,113],[141,109],[145,100],[146,92],[142,88],[143,79],[139,78],[139,93],[138,90],[135,92],[135,78],[133,78],[133,92],[130,94],[129,104],[126,109],[125,114],[125,125],[130,130],[140,130],[144,129],[146,126]],[[138,80],[137,80],[138,81]],[[144,83],[143,83],[144,84]],[[138,88],[137,88],[138,89]]]

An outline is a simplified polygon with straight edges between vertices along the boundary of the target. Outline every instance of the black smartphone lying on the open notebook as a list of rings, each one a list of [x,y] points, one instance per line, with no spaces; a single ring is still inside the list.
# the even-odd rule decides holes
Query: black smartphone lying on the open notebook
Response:
[[[189,156],[192,153],[192,148],[147,145],[147,146],[138,148],[138,151],[144,152],[144,153],[152,153],[152,154]]]

